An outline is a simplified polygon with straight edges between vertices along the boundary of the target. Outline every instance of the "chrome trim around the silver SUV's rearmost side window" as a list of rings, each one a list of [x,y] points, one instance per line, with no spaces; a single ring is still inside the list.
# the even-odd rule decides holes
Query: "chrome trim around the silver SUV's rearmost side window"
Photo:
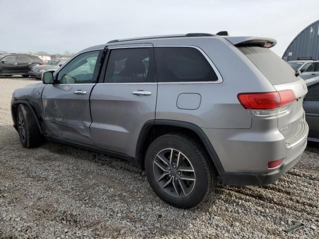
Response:
[[[187,82],[182,82],[182,81],[175,81],[175,82],[159,82],[160,85],[163,84],[218,84],[223,82],[223,78],[218,71],[217,67],[214,65],[214,63],[211,61],[211,59],[207,56],[207,54],[198,46],[191,46],[191,45],[158,45],[154,47],[191,47],[197,49],[208,61],[209,65],[213,68],[214,72],[217,75],[217,81],[187,81]]]

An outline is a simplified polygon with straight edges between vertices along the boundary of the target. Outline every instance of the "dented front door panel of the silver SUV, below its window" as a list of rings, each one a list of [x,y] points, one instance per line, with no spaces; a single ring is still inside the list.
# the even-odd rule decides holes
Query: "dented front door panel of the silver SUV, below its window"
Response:
[[[89,94],[92,85],[55,85],[42,95],[46,123],[53,135],[88,143],[91,124]],[[86,139],[84,139],[86,138]]]

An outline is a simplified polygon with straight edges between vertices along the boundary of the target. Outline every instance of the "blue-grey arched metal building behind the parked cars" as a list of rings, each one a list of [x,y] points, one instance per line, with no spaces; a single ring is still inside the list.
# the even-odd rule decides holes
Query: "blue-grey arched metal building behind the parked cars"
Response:
[[[283,59],[319,60],[319,20],[302,30],[287,47]]]

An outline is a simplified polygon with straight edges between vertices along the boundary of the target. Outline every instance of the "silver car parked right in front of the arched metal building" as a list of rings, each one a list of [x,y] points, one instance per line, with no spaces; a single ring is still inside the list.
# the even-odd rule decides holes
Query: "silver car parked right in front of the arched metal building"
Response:
[[[298,60],[298,61],[288,61],[295,71],[300,70],[300,77],[304,80],[319,76],[319,61],[312,60]]]

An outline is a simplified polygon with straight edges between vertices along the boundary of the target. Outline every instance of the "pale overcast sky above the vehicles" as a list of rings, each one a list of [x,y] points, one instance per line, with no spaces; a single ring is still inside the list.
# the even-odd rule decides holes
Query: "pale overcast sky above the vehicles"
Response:
[[[63,53],[188,32],[275,38],[280,56],[319,19],[319,0],[0,0],[0,50]]]

